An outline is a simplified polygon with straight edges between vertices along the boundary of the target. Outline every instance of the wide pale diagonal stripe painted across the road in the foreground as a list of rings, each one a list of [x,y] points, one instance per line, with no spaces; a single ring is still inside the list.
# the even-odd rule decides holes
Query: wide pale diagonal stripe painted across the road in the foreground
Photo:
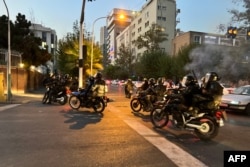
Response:
[[[173,161],[179,167],[199,166],[207,167],[203,162],[184,151],[166,138],[160,136],[150,128],[141,124],[135,119],[127,119],[128,117],[116,107],[108,106],[111,112],[116,113],[127,125],[134,129],[138,134],[143,136],[148,142],[157,147],[163,154]],[[118,113],[118,114],[117,114]],[[125,117],[124,117],[125,116]]]

